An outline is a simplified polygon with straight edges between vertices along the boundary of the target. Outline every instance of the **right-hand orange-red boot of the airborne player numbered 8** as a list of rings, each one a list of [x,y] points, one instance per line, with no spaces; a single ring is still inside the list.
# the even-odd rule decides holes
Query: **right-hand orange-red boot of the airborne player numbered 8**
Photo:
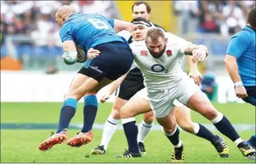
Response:
[[[67,144],[69,146],[79,147],[84,144],[88,144],[91,142],[93,137],[93,133],[91,131],[89,132],[77,132],[77,135],[75,137],[72,137],[70,140],[68,140]]]

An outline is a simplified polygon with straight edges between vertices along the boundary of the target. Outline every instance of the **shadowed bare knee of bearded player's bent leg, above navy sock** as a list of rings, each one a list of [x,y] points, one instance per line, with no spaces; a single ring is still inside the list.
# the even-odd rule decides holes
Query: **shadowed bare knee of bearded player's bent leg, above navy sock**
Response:
[[[169,111],[169,114],[167,114],[165,117],[155,117],[155,119],[158,121],[160,125],[162,125],[165,131],[173,131],[176,128],[177,124],[175,118],[175,110],[173,109]]]

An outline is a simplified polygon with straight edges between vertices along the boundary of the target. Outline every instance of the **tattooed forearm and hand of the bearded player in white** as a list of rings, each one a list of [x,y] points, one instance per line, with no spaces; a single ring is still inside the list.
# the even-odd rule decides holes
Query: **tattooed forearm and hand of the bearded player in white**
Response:
[[[193,55],[193,62],[201,62],[208,55],[208,48],[203,45],[191,44],[185,49],[185,55]]]

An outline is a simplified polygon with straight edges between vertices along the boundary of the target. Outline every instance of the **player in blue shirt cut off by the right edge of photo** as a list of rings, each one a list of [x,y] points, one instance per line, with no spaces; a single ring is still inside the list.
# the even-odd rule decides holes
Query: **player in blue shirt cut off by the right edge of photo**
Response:
[[[224,62],[234,83],[236,96],[256,106],[255,8],[250,11],[247,22],[248,25],[231,38]],[[248,143],[256,149],[256,134]]]

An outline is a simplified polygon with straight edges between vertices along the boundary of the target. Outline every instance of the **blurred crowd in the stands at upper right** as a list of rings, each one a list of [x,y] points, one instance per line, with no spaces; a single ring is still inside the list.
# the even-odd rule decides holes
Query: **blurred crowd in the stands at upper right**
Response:
[[[246,25],[255,1],[173,1],[181,34],[217,33],[230,36]]]

